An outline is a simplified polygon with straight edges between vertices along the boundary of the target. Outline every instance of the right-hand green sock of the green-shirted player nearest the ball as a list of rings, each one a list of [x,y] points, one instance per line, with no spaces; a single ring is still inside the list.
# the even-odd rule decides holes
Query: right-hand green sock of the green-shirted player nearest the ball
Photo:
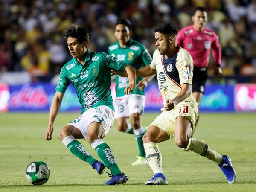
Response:
[[[111,148],[106,143],[98,145],[95,148],[95,151],[99,155],[99,158],[102,160],[102,162],[108,167],[108,169],[110,169],[112,175],[118,175],[122,173],[116,163]]]

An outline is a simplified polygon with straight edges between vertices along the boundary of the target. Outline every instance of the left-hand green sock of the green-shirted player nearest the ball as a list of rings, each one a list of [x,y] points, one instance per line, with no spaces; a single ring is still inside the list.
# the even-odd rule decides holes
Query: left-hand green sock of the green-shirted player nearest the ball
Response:
[[[90,163],[91,166],[93,165],[93,162],[96,161],[96,159],[94,159],[90,153],[85,150],[84,146],[78,140],[73,140],[70,142],[67,145],[67,148],[71,153],[76,155],[76,157],[79,157],[81,160]]]

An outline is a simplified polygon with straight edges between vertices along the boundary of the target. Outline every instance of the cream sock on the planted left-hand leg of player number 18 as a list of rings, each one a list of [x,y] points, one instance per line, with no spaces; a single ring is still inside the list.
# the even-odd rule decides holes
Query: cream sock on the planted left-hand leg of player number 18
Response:
[[[144,144],[148,165],[153,170],[154,174],[163,173],[162,155],[159,151],[158,144],[149,142]]]

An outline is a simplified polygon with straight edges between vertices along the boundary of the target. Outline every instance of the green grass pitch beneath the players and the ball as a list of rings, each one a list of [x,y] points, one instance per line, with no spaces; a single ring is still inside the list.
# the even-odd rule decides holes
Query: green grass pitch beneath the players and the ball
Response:
[[[111,128],[104,141],[110,145],[119,167],[129,180],[125,185],[104,186],[110,179],[75,157],[58,139],[59,129],[76,119],[79,113],[60,113],[55,121],[53,139],[46,141],[44,132],[47,113],[0,114],[0,191],[38,192],[98,192],[98,191],[255,191],[256,190],[256,115],[255,113],[201,113],[193,137],[205,140],[220,154],[233,158],[237,182],[228,184],[221,169],[210,160],[193,152],[183,151],[173,139],[160,143],[163,171],[167,186],[145,186],[153,176],[148,165],[131,166],[136,160],[137,147],[133,135]],[[149,125],[157,116],[143,116],[143,125]],[[86,140],[80,140],[96,158],[96,152]],[[27,165],[35,160],[48,164],[51,176],[42,186],[33,186],[26,180]]]

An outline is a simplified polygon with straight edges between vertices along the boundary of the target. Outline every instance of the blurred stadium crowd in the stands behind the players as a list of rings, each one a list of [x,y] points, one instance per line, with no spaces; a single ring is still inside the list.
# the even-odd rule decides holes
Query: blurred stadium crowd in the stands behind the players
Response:
[[[67,26],[86,26],[93,39],[88,49],[108,52],[119,17],[131,21],[133,39],[152,55],[154,27],[166,21],[178,29],[190,25],[196,6],[208,9],[207,27],[219,36],[223,75],[256,82],[256,0],[1,0],[0,73],[28,71],[34,82],[50,81],[70,60]],[[212,63],[210,58],[210,76]]]

